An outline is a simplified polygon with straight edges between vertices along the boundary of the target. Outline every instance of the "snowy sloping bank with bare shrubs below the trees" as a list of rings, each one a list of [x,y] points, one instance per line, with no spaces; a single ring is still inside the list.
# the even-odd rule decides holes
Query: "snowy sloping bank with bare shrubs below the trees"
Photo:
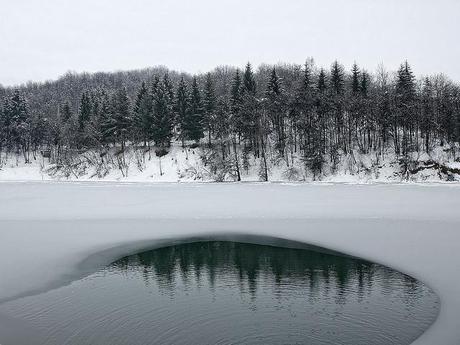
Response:
[[[126,166],[119,168],[117,150],[109,151],[103,158],[99,152],[87,151],[75,155],[63,167],[57,167],[50,159],[43,158],[39,153],[31,155],[30,163],[24,163],[21,155],[0,155],[0,181],[124,181],[124,182],[205,182],[233,181],[235,174],[223,174],[214,171],[209,163],[209,149],[201,147],[182,147],[173,143],[167,155],[158,158],[155,150],[150,153],[142,150],[128,149],[124,155]],[[423,166],[429,162],[429,168],[420,169],[414,174],[402,174],[399,158],[394,155],[393,149],[387,149],[383,156],[374,153],[362,154],[354,151],[352,154],[342,154],[335,166],[330,158],[325,157],[325,164],[320,176],[313,176],[306,171],[304,161],[299,152],[288,154],[286,161],[276,152],[268,152],[268,176],[270,181],[312,181],[321,180],[328,182],[344,183],[369,183],[369,182],[439,182],[460,181],[460,173],[440,172],[433,168],[433,162],[450,169],[460,170],[460,158],[457,157],[459,149],[437,146],[430,154],[414,152],[410,155],[413,162],[420,162]],[[239,148],[239,166],[243,181],[259,181],[261,160],[252,154],[243,158],[242,148]],[[232,157],[232,155],[230,155]],[[204,161],[207,163],[205,164]],[[412,167],[419,167],[413,164]],[[224,175],[224,177],[223,177]]]

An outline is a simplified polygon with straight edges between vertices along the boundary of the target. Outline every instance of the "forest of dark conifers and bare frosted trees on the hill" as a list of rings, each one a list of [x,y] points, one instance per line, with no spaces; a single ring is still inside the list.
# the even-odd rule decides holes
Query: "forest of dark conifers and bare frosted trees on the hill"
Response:
[[[134,81],[133,81],[134,80]],[[137,85],[137,86],[136,86]],[[407,62],[394,74],[370,74],[337,61],[329,70],[221,67],[190,76],[166,69],[66,75],[56,82],[0,89],[0,150],[30,154],[127,147],[157,155],[172,141],[203,145],[239,180],[253,155],[261,179],[267,156],[314,176],[355,150],[398,157],[460,141],[460,87],[442,75],[417,80]],[[31,100],[31,101],[30,101]]]

